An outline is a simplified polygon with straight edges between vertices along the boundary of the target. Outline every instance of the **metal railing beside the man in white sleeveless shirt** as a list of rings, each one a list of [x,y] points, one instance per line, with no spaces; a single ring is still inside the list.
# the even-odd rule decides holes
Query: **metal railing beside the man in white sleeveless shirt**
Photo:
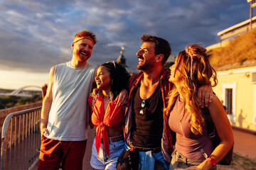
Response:
[[[39,160],[41,108],[10,113],[1,136],[1,169],[32,169]]]

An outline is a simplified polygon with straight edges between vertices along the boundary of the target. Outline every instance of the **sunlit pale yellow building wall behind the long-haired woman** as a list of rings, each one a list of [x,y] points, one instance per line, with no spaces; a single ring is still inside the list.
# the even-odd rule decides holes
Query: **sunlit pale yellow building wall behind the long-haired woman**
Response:
[[[256,66],[217,72],[218,85],[213,91],[225,105],[225,89],[233,89],[233,111],[228,115],[231,125],[256,131],[256,85],[252,72],[256,72]]]

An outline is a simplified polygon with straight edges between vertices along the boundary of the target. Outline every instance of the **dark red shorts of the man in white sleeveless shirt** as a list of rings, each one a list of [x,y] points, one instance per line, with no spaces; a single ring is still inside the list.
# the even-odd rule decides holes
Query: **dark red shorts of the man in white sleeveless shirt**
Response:
[[[58,170],[60,162],[62,162],[63,170],[82,170],[82,159],[85,154],[86,142],[87,140],[50,140],[43,135],[38,170]]]

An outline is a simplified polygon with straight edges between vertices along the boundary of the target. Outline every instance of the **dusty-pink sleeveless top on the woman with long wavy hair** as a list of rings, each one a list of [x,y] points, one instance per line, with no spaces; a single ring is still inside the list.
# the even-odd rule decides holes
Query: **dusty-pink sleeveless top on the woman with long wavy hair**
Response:
[[[190,119],[190,113],[184,109],[184,103],[178,97],[169,117],[169,126],[176,132],[176,150],[188,159],[204,160],[206,158],[199,147],[210,155],[213,152],[213,145],[206,126],[203,126],[203,135],[191,132]]]

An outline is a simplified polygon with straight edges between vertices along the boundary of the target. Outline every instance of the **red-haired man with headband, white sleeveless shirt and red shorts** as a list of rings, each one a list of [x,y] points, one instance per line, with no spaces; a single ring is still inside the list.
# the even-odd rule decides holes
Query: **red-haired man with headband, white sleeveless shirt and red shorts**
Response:
[[[60,162],[63,169],[82,169],[89,123],[86,101],[96,69],[87,60],[96,42],[92,31],[80,31],[71,44],[72,60],[50,69],[41,111],[38,169],[59,169]]]

